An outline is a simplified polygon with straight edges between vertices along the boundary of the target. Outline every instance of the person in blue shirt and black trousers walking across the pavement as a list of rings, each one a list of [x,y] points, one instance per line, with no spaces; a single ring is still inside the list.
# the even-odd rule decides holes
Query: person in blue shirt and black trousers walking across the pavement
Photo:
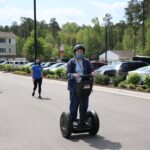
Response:
[[[32,92],[32,96],[35,95],[35,91],[37,89],[38,86],[38,93],[39,96],[38,98],[42,98],[41,97],[41,86],[42,86],[42,67],[40,64],[39,60],[36,60],[35,65],[32,66],[32,79],[33,79],[33,92]]]

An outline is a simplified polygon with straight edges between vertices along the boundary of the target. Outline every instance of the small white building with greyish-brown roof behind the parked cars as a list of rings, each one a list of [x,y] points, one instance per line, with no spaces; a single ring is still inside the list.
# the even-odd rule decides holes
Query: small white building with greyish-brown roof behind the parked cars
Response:
[[[128,50],[108,50],[107,61],[116,60],[131,60],[134,57],[134,52]],[[105,53],[99,56],[100,61],[105,60]]]

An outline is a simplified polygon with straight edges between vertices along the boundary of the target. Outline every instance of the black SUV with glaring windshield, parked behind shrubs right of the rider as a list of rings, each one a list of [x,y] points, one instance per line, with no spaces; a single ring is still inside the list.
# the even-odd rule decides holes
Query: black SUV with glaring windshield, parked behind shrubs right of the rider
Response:
[[[110,77],[115,75],[126,77],[128,71],[132,71],[143,66],[148,66],[148,64],[142,61],[121,61],[116,64],[116,66],[113,66],[113,68],[110,67],[110,69],[103,70],[103,74]]]

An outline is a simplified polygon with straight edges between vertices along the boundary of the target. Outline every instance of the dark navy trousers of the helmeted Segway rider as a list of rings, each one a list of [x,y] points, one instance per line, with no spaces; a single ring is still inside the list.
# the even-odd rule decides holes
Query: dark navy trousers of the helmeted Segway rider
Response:
[[[89,101],[88,97],[79,100],[76,93],[74,91],[70,91],[70,114],[72,117],[72,121],[76,121],[77,119],[78,108],[80,112],[80,119],[82,121],[85,120],[88,109],[88,101]]]

